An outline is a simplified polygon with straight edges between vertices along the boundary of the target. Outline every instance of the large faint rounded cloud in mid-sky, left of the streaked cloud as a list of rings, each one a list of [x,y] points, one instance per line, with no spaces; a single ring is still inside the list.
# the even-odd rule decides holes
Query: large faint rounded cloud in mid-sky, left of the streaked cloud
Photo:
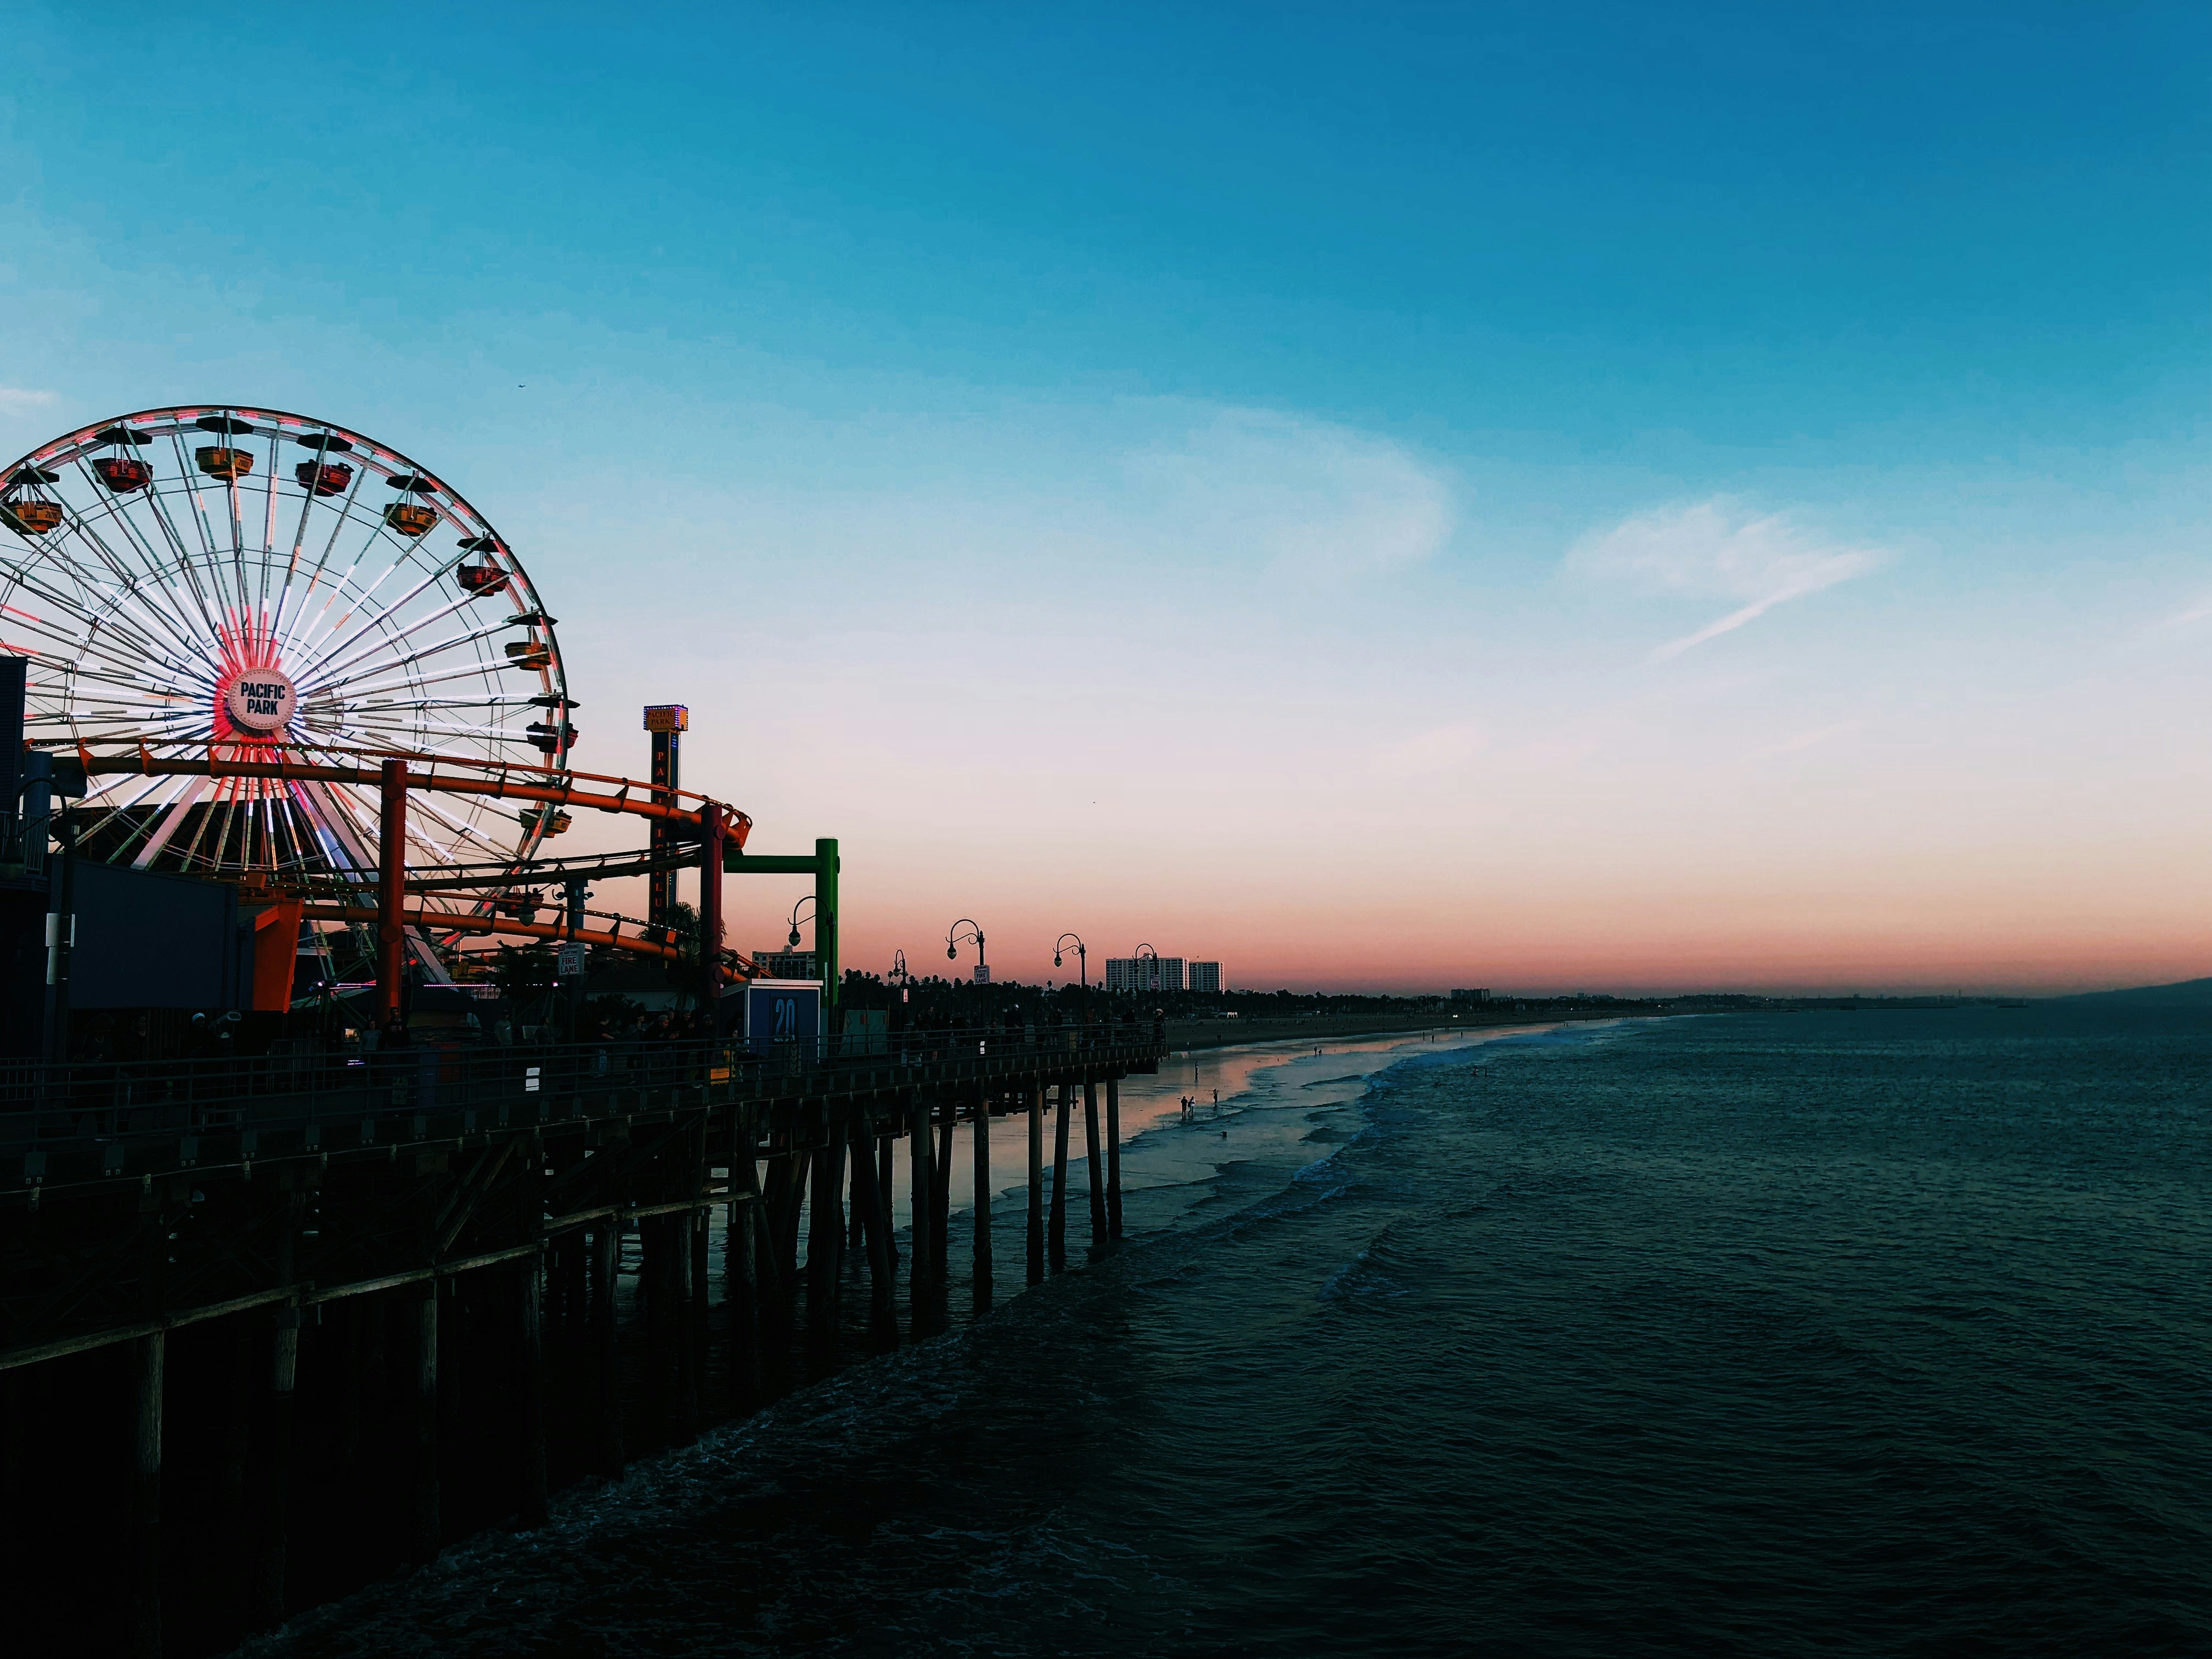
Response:
[[[1451,484],[1387,438],[1265,409],[1221,409],[1128,471],[1203,544],[1298,575],[1418,564],[1458,518]]]

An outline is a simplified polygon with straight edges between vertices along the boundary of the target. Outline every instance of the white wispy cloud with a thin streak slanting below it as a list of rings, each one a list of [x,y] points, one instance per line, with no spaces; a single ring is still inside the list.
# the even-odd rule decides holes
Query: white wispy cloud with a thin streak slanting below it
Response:
[[[1880,564],[1880,551],[1840,546],[1787,513],[1752,513],[1732,495],[1637,513],[1568,551],[1568,566],[1644,593],[1736,599],[1736,608],[1697,633],[1668,639],[1652,661],[1668,661],[1723,633],[1756,622],[1790,599],[1820,593]]]

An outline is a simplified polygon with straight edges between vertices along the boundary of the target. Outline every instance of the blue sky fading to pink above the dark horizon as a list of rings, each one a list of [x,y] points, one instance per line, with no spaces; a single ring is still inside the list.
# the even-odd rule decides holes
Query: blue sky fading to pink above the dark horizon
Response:
[[[11,66],[0,447],[416,453],[573,595],[580,761],[688,699],[863,953],[2208,971],[2197,7],[31,7]]]

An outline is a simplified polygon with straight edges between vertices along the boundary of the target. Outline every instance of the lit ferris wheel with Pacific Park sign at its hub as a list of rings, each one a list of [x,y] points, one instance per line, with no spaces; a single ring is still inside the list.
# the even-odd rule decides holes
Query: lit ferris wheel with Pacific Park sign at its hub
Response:
[[[374,876],[374,787],[217,761],[566,772],[577,737],[553,617],[489,520],[400,451],[274,409],[146,409],[0,473],[0,650],[31,659],[33,743],[210,761],[93,779],[80,856],[137,869]],[[513,865],[562,823],[425,794],[405,863]]]

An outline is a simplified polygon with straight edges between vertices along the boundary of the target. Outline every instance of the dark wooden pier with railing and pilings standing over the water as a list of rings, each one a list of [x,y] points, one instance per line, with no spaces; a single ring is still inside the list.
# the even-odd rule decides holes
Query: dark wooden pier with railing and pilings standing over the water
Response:
[[[1115,1248],[1119,1079],[1157,1071],[1157,1026],[849,1042],[874,1051],[0,1073],[0,1562],[18,1637],[230,1646],[482,1526],[542,1522],[560,1486],[619,1473],[633,1436],[681,1444],[938,1332],[962,1126],[980,1307],[991,1194],[1013,1186],[991,1168],[991,1117],[1026,1117],[1026,1283],[1068,1263],[1077,1102],[1088,1250]]]

